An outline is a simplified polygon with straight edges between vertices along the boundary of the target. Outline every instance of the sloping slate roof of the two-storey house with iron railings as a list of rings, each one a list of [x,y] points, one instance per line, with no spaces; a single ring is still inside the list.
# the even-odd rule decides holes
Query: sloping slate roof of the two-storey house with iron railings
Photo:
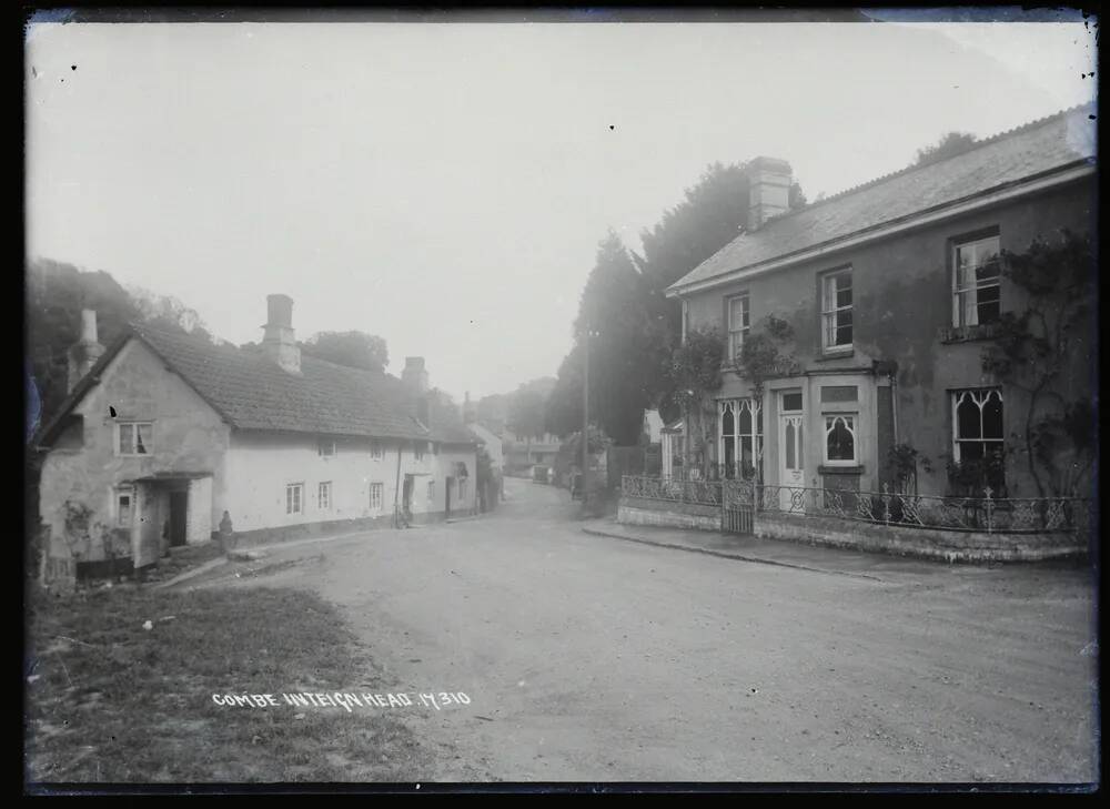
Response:
[[[775,218],[734,239],[669,290],[680,292],[697,282],[836,242],[999,186],[1077,163],[1093,163],[1097,130],[1090,114],[1090,104],[1063,110],[979,141],[962,154],[887,174]]]

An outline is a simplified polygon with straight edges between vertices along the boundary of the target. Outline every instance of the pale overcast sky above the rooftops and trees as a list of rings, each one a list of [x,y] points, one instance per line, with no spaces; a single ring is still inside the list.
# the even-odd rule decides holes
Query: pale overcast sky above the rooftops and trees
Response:
[[[1096,26],[34,23],[29,257],[258,341],[383,336],[458,401],[554,376],[598,242],[715,161],[813,200],[1091,100]]]

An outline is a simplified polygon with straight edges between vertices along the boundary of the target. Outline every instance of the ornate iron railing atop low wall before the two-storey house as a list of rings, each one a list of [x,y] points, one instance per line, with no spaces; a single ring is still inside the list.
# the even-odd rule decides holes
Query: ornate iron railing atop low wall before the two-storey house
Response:
[[[755,512],[836,517],[872,525],[983,532],[1088,536],[1092,500],[1082,497],[951,497],[891,491],[854,492],[814,486],[771,486],[754,479],[688,481],[625,475],[626,497],[753,507]]]

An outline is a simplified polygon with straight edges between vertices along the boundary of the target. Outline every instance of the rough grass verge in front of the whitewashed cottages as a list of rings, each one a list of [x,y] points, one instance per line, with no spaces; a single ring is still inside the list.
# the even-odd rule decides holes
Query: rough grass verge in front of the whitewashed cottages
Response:
[[[286,691],[389,690],[335,608],[312,594],[113,588],[39,597],[28,629],[32,789],[73,781],[412,781],[427,772],[426,751],[385,709],[213,701],[214,694],[281,700]]]

